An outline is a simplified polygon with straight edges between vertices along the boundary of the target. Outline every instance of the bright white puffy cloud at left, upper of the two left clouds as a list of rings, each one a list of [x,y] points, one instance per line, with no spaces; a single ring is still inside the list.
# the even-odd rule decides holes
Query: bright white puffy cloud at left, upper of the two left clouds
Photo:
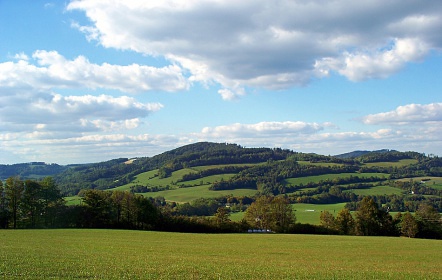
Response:
[[[21,53],[17,62],[0,63],[0,88],[49,90],[52,88],[114,89],[121,92],[179,91],[188,82],[177,65],[156,68],[91,63],[86,57],[68,60],[56,51],[38,50],[33,64]]]

